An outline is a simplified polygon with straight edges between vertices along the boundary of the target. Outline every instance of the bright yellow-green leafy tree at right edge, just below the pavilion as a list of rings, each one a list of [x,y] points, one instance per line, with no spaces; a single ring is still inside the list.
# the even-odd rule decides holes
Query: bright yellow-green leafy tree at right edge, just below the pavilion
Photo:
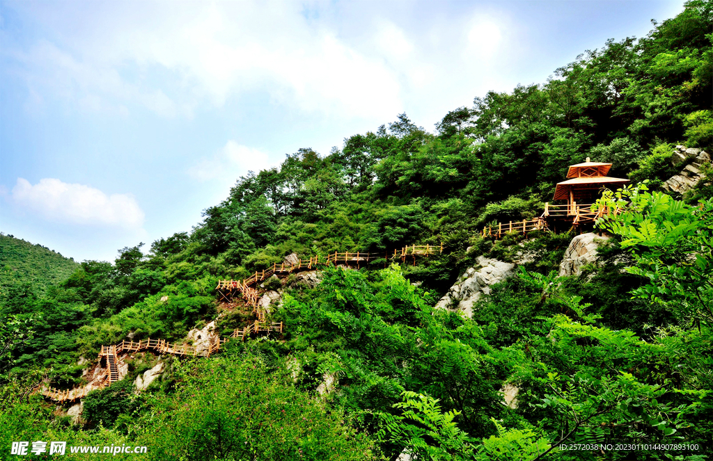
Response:
[[[713,198],[695,207],[645,184],[605,192],[598,207],[609,214],[597,223],[620,238],[648,279],[634,295],[665,304],[682,320],[713,323]],[[615,210],[625,207],[625,212]]]

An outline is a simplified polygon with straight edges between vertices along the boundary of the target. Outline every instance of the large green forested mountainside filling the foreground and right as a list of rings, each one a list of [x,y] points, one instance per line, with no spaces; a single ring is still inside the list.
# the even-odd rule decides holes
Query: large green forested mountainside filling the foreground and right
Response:
[[[689,1],[545,83],[478,95],[433,133],[401,114],[327,155],[287,155],[148,256],[139,243],[46,290],[4,292],[0,450],[66,440],[145,445],[150,460],[709,459],[712,186],[679,195],[662,183],[690,161],[674,158],[677,145],[712,152],[712,23],[713,1]],[[612,210],[595,229],[611,237],[600,265],[558,276],[574,232],[481,236],[540,216],[586,157],[632,180],[600,201]],[[443,252],[387,258],[410,244]],[[357,251],[384,258],[265,281],[282,334],[210,358],[126,354],[126,377],[83,398],[81,418],[32,393],[88,383],[101,346],[190,342],[212,321],[230,336],[254,316],[241,299],[218,302],[221,279],[292,253]],[[478,257],[515,274],[472,317],[436,309]],[[135,392],[147,371],[158,378]],[[600,443],[645,448],[560,450]]]

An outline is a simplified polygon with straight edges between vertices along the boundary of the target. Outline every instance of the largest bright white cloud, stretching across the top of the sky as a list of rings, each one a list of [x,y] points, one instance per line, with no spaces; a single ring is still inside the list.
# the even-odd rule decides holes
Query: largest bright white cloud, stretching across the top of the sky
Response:
[[[221,107],[260,91],[307,113],[402,109],[396,73],[309,24],[296,2],[179,2],[170,11],[143,3],[130,12],[128,4],[83,5],[81,27],[43,17],[61,40],[13,53],[31,88],[83,110],[138,105],[163,117],[191,116],[205,103]],[[72,7],[54,9],[63,17]]]

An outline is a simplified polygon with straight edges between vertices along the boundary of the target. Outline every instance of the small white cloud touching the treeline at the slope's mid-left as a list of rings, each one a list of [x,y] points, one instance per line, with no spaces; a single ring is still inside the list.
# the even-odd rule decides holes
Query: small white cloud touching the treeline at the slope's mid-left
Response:
[[[201,182],[215,179],[234,181],[248,171],[258,172],[270,166],[265,152],[229,140],[215,155],[193,165],[188,175]]]

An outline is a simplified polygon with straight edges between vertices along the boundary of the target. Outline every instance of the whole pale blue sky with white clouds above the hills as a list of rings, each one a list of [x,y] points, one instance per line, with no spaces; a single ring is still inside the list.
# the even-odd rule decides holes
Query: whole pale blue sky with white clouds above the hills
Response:
[[[433,131],[683,1],[1,1],[0,230],[66,257],[190,231],[248,170]]]

